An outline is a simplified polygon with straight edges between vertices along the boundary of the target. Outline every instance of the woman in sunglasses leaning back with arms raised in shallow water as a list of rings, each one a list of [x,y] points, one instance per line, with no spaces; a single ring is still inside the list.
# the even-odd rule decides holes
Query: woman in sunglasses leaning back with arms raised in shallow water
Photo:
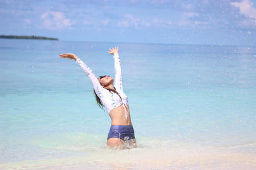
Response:
[[[76,63],[79,64],[92,81],[97,104],[99,104],[100,108],[104,106],[111,118],[107,145],[118,146],[118,148],[136,147],[128,99],[123,92],[118,47],[109,48],[108,53],[112,54],[115,60],[115,83],[113,78],[107,75],[96,78],[93,71],[73,53],[64,53],[60,57],[76,60]]]

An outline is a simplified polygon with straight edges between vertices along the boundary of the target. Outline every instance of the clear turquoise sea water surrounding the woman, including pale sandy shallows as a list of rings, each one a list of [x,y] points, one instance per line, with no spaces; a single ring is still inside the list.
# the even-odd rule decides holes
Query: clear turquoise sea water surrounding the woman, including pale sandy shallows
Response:
[[[106,148],[108,113],[76,62],[58,56],[114,77],[112,46],[132,150]],[[255,46],[0,39],[0,53],[0,169],[256,167]]]

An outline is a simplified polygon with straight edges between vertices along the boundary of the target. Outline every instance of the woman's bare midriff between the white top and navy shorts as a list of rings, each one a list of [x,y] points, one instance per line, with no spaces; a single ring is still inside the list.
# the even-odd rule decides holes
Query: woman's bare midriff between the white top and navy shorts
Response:
[[[127,116],[125,117],[124,106],[121,104],[117,108],[113,109],[109,113],[109,117],[111,118],[111,125],[131,125],[131,117],[130,117],[130,110],[129,106],[125,105],[127,109]]]

